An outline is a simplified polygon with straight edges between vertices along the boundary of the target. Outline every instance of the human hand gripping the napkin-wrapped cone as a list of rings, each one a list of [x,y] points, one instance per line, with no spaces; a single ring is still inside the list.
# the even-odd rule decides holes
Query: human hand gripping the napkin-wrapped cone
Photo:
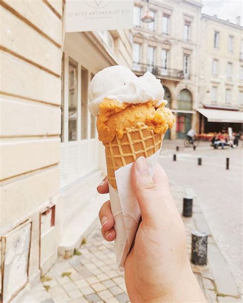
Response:
[[[142,221],[125,263],[125,282],[132,302],[206,302],[191,270],[183,221],[171,196],[169,181],[157,164],[153,178],[147,161],[138,158],[132,183]],[[97,188],[108,192],[108,181]],[[115,239],[110,201],[99,212],[102,234]]]

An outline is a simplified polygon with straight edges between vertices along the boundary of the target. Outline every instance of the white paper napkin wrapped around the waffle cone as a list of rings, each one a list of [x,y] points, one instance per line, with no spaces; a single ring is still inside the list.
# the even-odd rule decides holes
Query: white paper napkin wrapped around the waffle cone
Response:
[[[151,176],[158,161],[160,148],[155,154],[146,158]],[[132,188],[131,169],[133,163],[118,168],[115,171],[117,190],[109,184],[111,210],[115,220],[116,232],[115,251],[116,262],[120,271],[124,271],[124,264],[136,235],[141,212]]]

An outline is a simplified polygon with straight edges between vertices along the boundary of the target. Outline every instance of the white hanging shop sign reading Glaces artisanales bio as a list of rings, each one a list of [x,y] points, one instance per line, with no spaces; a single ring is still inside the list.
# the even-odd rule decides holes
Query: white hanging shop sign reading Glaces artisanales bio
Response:
[[[66,32],[131,29],[132,0],[67,0]]]

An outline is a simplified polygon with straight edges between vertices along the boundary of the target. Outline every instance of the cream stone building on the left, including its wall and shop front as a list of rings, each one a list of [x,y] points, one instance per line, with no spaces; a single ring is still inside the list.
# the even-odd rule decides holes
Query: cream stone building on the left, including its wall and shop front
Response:
[[[130,31],[65,35],[65,1],[0,2],[0,301],[71,256],[96,219],[105,168],[92,76],[131,67]],[[105,198],[106,199],[106,198]]]

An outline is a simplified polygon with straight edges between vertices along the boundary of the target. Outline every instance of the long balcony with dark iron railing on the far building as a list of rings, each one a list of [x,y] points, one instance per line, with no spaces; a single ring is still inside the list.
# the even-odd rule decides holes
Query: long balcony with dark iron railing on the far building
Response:
[[[184,79],[183,71],[167,69],[155,65],[133,62],[132,70],[135,74],[143,75],[146,72],[152,73],[157,78],[180,81]]]

